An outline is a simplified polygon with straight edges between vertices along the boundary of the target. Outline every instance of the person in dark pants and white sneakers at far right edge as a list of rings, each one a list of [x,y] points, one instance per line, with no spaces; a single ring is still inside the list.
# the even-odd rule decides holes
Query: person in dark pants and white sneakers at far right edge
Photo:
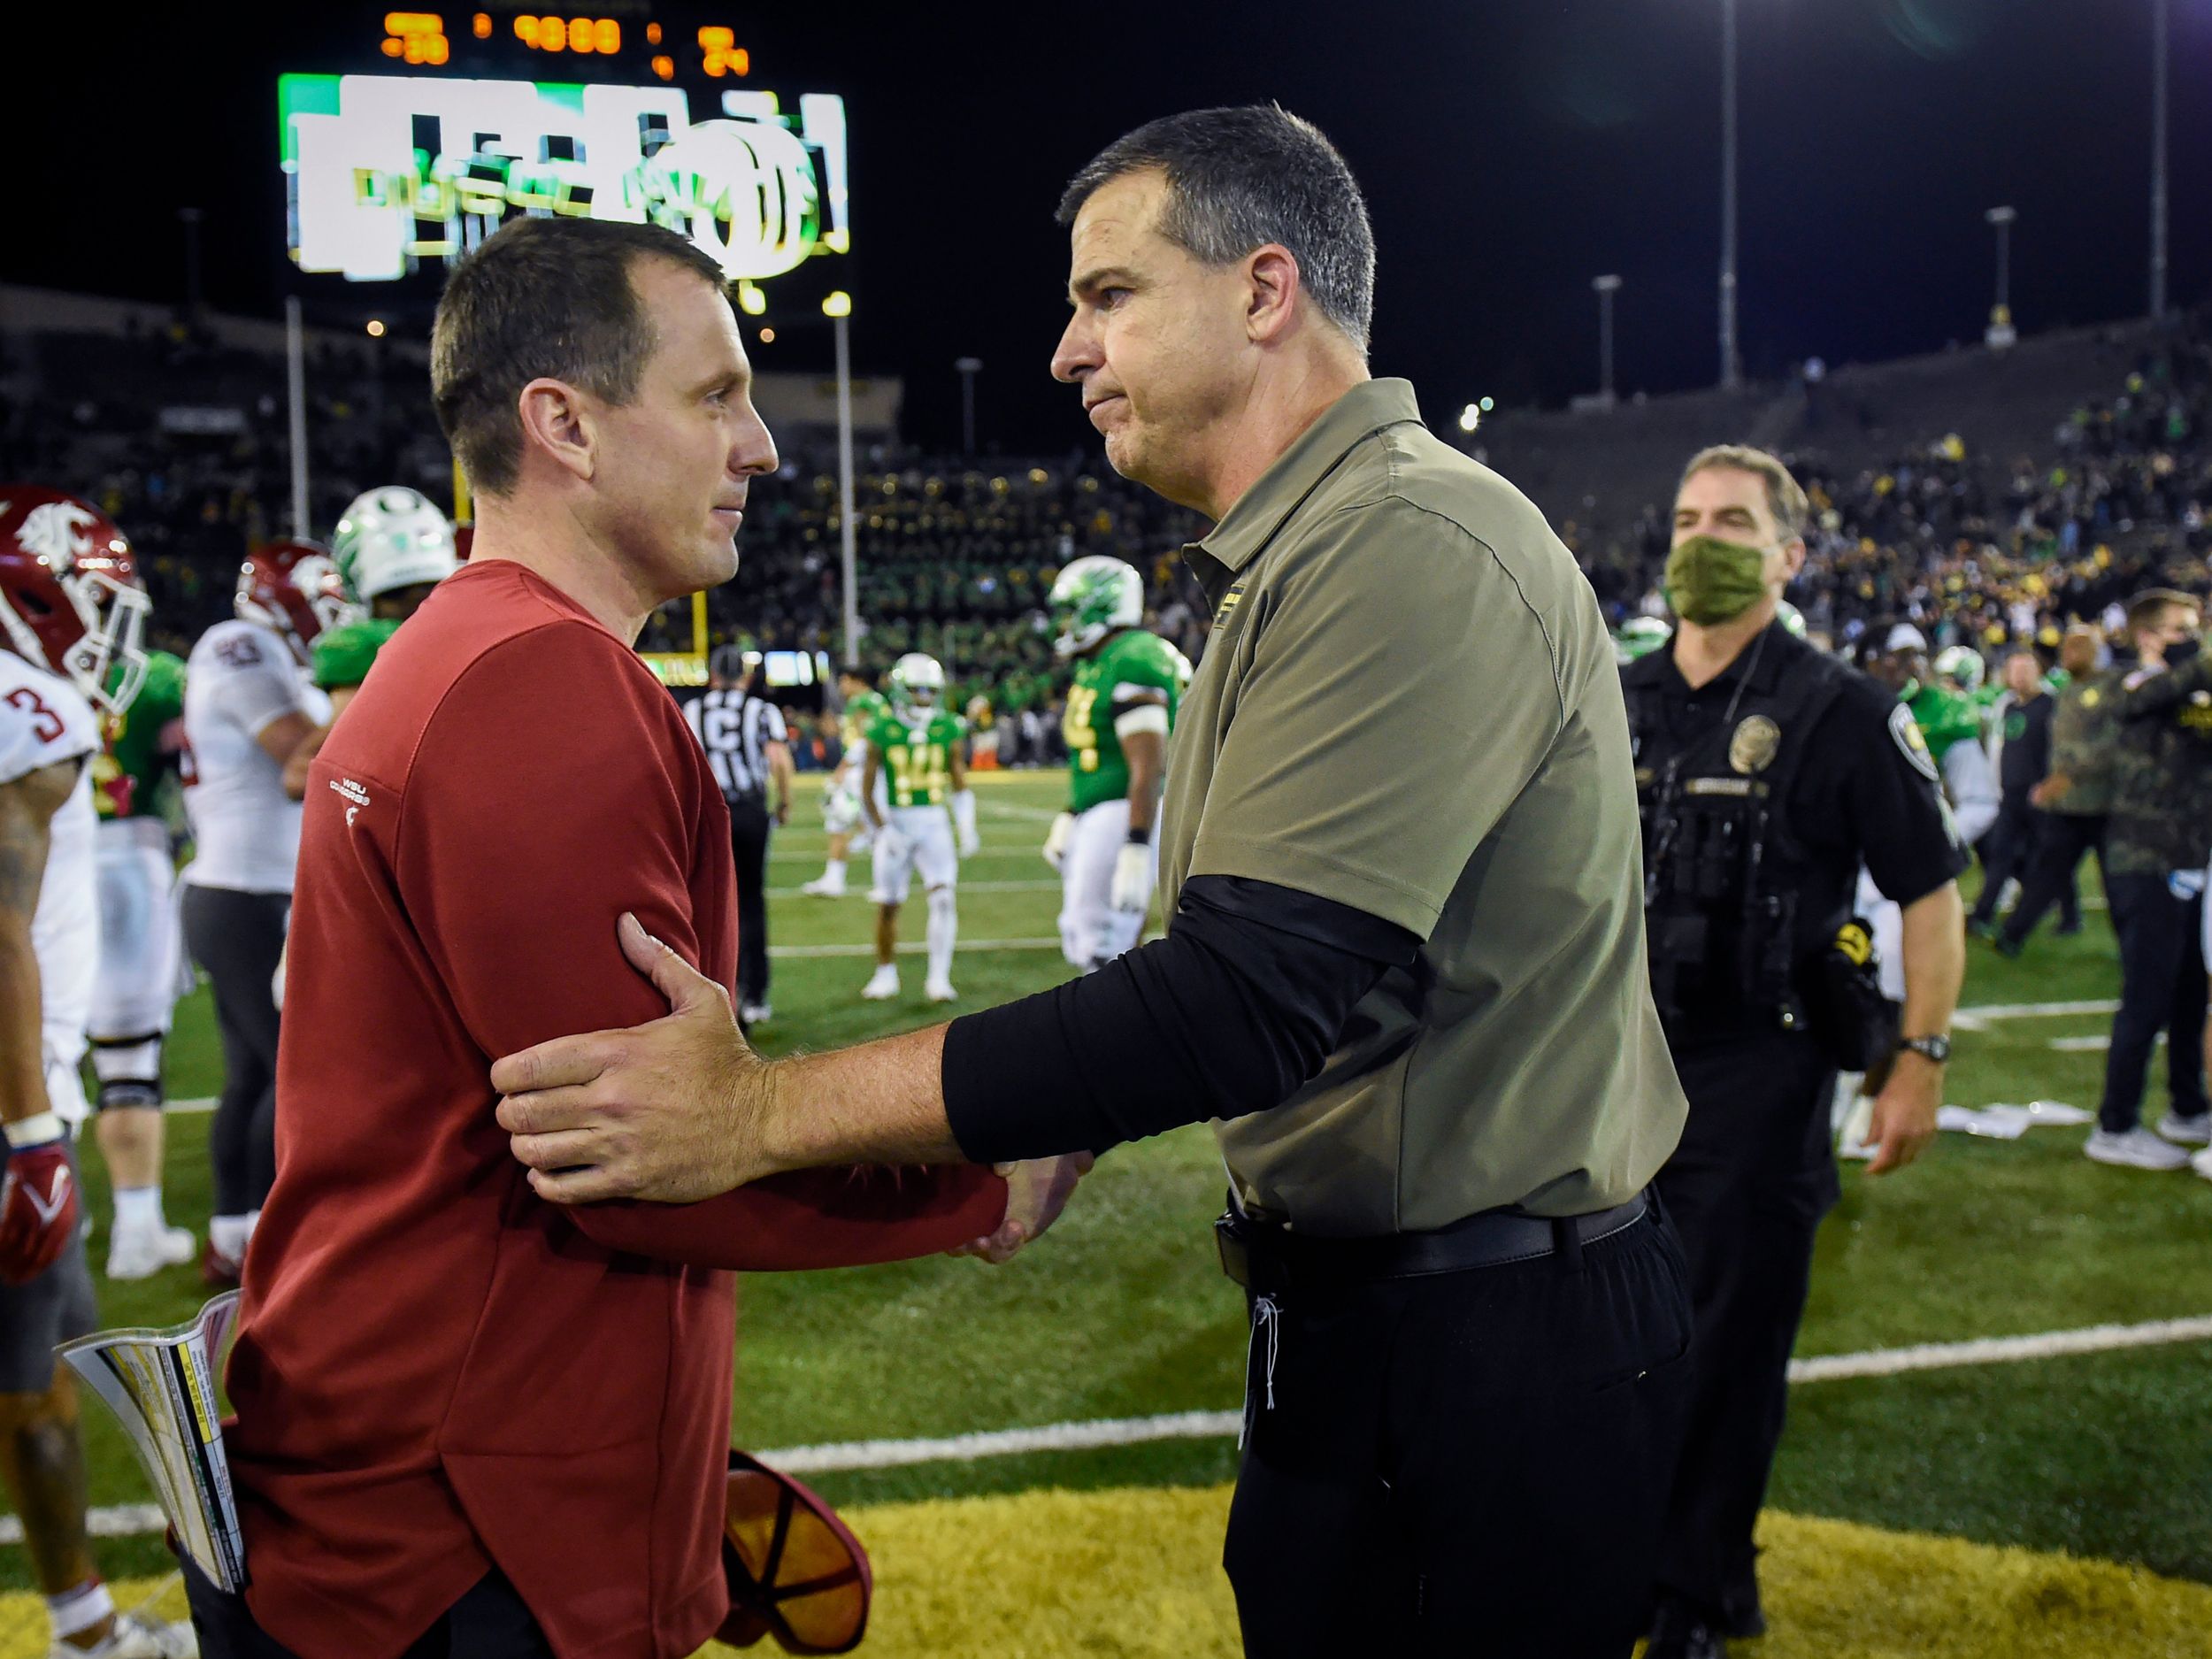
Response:
[[[2135,1170],[2179,1170],[2188,1164],[2183,1146],[2212,1141],[2199,947],[2212,856],[2212,657],[2197,637],[2201,626],[2203,613],[2190,595],[2139,593],[2128,602],[2137,666],[2110,690],[2106,872],[2119,933],[2119,1013],[2097,1128],[2081,1150]],[[2139,1117],[2159,1031],[2166,1031],[2170,1106],[2152,1135]]]

